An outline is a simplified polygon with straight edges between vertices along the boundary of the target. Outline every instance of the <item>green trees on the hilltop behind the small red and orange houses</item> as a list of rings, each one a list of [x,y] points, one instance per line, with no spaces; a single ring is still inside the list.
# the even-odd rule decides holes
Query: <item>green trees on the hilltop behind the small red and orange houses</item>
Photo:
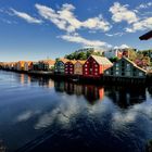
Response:
[[[74,52],[71,54],[66,54],[64,58],[68,60],[87,60],[91,54],[101,55],[100,52],[87,51],[87,52]]]

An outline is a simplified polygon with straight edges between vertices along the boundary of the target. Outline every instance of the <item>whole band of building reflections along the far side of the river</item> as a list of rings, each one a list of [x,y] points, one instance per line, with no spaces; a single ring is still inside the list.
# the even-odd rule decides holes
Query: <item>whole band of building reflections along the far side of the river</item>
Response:
[[[50,78],[43,77],[30,77],[21,74],[21,84],[38,83],[41,87],[54,88],[56,92],[65,92],[67,94],[84,96],[90,103],[94,104],[97,101],[102,101],[104,96],[109,97],[112,102],[116,103],[121,107],[128,107],[136,103],[141,103],[147,100],[145,87],[116,87],[116,86],[93,86],[93,85],[80,85],[68,81],[53,81]],[[149,87],[148,91],[152,94],[152,89]]]

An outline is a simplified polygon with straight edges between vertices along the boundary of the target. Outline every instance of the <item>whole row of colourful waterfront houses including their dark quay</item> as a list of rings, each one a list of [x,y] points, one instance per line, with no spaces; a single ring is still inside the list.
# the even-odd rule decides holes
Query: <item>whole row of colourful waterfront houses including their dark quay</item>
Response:
[[[28,63],[28,64],[27,64]],[[86,61],[59,59],[56,61],[4,63],[2,69],[75,83],[150,84],[151,73],[126,56],[112,63],[105,56],[90,55]]]

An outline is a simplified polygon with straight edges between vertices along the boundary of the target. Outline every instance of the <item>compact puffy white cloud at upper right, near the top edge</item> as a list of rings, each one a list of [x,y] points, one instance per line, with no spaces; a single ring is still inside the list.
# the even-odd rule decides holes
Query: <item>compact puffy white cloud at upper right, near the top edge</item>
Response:
[[[121,5],[119,2],[115,2],[109,11],[113,14],[112,20],[116,23],[126,21],[128,24],[131,24],[138,21],[136,13],[128,10],[128,5]]]

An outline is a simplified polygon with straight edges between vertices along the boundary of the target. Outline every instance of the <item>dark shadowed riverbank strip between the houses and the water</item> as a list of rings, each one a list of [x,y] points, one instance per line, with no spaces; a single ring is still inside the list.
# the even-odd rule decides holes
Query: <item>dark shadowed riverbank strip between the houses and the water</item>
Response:
[[[62,75],[54,74],[53,72],[45,71],[14,71],[3,69],[8,72],[15,72],[21,74],[27,74],[36,77],[50,77],[55,80],[67,80],[80,84],[96,84],[96,85],[150,85],[152,83],[152,75],[147,75],[145,78],[134,78],[134,77],[112,77],[112,76],[100,76],[100,77],[84,77],[83,75]]]

